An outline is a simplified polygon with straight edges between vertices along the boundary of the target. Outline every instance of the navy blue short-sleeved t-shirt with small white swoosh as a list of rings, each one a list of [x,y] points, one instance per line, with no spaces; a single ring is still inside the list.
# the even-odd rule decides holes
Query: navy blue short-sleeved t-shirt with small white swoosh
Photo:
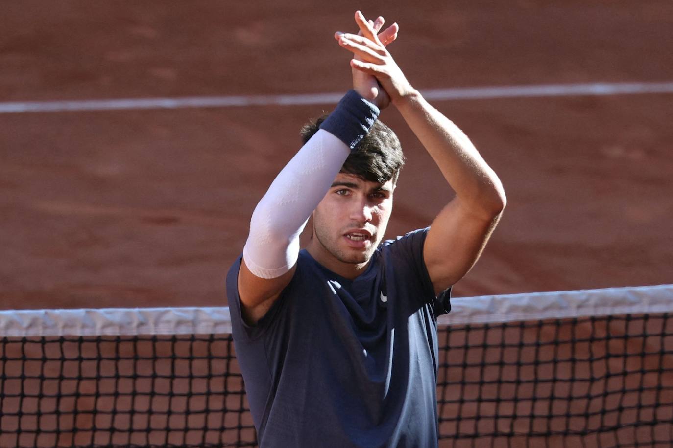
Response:
[[[383,242],[349,280],[307,251],[255,326],[242,320],[241,258],[227,275],[236,356],[260,446],[436,447],[437,316],[427,228]]]

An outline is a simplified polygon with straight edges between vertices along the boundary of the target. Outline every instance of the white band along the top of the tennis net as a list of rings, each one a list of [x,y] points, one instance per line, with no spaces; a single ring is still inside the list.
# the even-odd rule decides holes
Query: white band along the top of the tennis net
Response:
[[[438,325],[673,312],[673,284],[452,298]],[[225,334],[229,307],[0,311],[0,337]]]

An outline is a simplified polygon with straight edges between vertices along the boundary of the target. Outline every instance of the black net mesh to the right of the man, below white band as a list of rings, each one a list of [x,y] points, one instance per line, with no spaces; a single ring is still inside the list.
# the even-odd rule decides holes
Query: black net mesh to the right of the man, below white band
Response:
[[[440,337],[447,447],[673,446],[669,314],[452,326]]]

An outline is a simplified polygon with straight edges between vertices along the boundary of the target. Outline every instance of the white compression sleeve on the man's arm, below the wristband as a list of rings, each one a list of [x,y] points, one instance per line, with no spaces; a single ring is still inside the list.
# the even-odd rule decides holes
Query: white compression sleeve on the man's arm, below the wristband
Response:
[[[285,165],[252,213],[243,248],[250,272],[272,279],[294,266],[299,234],[350,152],[339,138],[319,129]]]

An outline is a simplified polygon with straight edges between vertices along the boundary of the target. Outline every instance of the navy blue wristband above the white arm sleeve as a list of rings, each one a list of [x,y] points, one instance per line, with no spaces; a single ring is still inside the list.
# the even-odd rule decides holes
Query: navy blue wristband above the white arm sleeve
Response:
[[[353,150],[367,135],[378,114],[379,108],[374,103],[367,101],[356,91],[349,90],[330,116],[320,124],[320,129],[333,134]]]

